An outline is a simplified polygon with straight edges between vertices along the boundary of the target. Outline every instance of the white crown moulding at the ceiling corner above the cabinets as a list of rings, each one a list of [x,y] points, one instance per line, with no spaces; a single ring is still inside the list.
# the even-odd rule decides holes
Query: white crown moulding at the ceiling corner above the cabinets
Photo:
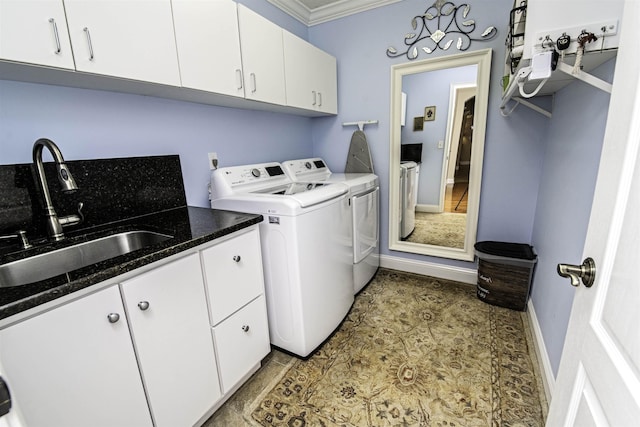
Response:
[[[269,0],[307,26],[386,6],[400,0]]]

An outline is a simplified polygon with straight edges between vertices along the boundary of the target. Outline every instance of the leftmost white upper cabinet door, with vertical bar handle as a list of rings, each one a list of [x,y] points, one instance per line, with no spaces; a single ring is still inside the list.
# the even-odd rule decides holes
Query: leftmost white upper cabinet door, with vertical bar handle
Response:
[[[0,59],[73,70],[62,0],[0,1]]]

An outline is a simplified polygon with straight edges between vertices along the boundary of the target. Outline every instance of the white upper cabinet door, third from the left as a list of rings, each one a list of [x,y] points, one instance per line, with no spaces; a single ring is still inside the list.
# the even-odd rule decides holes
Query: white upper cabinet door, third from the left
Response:
[[[244,97],[236,3],[171,3],[182,86]]]

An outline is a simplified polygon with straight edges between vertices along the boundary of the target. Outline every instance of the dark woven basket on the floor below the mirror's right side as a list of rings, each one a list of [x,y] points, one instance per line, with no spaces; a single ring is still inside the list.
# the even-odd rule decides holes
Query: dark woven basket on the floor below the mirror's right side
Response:
[[[484,252],[482,243],[492,243],[489,250],[493,253]],[[525,311],[537,257],[529,245],[504,243],[503,245],[509,246],[504,246],[504,250],[501,251],[501,243],[479,242],[476,244],[478,257],[476,293],[478,298],[486,303]],[[519,245],[522,246],[519,247]],[[496,253],[509,256],[495,255]]]

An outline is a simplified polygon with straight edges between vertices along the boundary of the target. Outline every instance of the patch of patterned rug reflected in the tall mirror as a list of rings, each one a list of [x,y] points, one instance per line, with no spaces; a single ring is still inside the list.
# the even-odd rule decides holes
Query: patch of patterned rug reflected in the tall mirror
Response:
[[[467,214],[416,212],[416,228],[408,242],[464,248]]]

